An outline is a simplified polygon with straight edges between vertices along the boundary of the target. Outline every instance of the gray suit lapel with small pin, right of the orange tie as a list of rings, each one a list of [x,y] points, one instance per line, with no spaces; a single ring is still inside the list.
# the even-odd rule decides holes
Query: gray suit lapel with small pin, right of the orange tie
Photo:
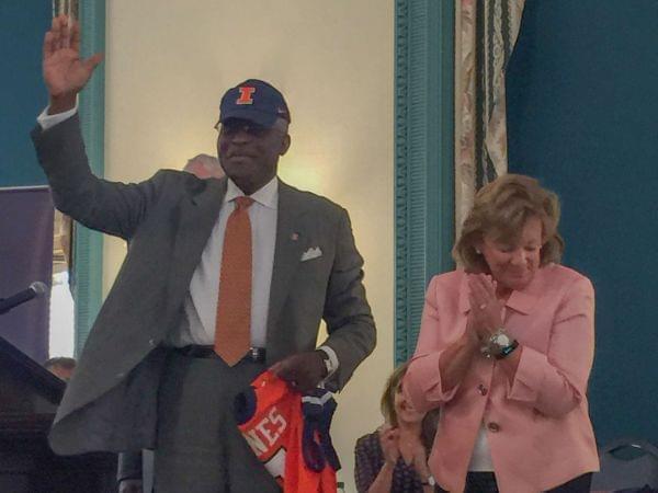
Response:
[[[279,182],[279,209],[276,217],[276,243],[270,286],[268,312],[268,347],[290,291],[291,280],[299,266],[299,259],[307,241],[302,217],[305,214],[300,194],[282,181]]]

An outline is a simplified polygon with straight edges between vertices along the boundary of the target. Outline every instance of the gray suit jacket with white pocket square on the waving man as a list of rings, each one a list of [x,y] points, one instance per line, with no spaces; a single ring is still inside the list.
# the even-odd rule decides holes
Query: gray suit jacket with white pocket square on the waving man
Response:
[[[128,241],[128,252],[100,310],[50,431],[59,454],[152,448],[156,398],[183,300],[226,193],[226,180],[159,171],[138,184],[95,177],[77,116],[32,131],[55,205],[84,226]],[[322,255],[300,262],[309,248]],[[268,318],[268,364],[311,351],[321,319],[340,368],[341,389],[375,345],[362,284],[363,260],[347,211],[280,184]]]

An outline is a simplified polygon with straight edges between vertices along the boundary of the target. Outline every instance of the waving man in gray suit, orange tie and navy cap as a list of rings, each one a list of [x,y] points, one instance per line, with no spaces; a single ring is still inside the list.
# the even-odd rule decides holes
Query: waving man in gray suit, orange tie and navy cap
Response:
[[[322,381],[340,390],[372,352],[348,214],[276,177],[290,112],[259,80],[222,100],[217,151],[227,177],[160,171],[122,184],[93,176],[76,98],[101,57],[81,59],[78,26],[67,25],[55,19],[44,41],[49,106],[32,134],[37,157],[60,210],[129,246],[50,445],[59,454],[155,449],[158,493],[277,491],[236,428],[232,397],[266,368],[302,392]],[[251,231],[249,333],[234,360],[226,352],[241,335],[216,325],[235,308],[222,302],[239,284],[223,283],[223,251],[235,251],[225,233],[240,210]],[[321,319],[329,336],[316,348]]]

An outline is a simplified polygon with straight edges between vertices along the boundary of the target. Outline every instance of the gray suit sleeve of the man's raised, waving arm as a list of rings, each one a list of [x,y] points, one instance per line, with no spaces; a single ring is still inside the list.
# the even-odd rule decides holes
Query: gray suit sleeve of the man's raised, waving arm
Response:
[[[47,130],[37,126],[32,140],[53,192],[55,206],[88,228],[129,239],[157,199],[163,173],[140,184],[94,176],[75,115]]]

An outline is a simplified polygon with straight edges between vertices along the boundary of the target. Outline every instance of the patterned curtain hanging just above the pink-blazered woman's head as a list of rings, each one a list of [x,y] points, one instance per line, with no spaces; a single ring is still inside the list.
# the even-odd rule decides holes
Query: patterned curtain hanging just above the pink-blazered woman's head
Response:
[[[455,225],[475,192],[507,172],[504,70],[525,0],[461,0],[455,47]]]

